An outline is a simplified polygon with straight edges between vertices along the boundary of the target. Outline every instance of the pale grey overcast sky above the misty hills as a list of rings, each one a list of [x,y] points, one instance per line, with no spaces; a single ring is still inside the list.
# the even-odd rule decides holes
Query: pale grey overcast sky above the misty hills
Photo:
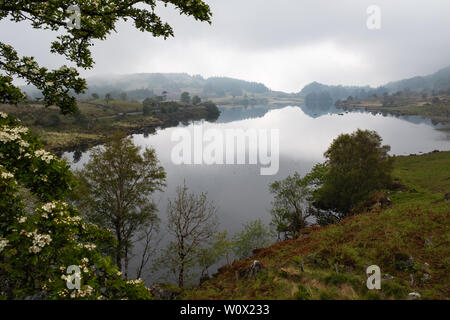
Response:
[[[187,72],[263,82],[297,92],[309,82],[378,86],[450,65],[448,0],[207,0],[213,23],[159,10],[174,28],[163,40],[121,23],[96,42],[94,69],[82,75]],[[381,29],[366,26],[381,8]],[[55,33],[0,22],[0,41],[48,67],[68,64],[49,53]],[[69,64],[70,65],[70,64]]]

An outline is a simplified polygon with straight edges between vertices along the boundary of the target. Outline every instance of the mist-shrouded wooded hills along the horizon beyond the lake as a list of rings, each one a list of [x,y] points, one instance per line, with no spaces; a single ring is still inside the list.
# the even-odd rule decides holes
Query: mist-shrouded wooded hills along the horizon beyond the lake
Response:
[[[119,97],[120,93],[125,92],[129,99],[143,100],[154,95],[160,95],[165,91],[169,99],[179,99],[181,93],[186,91],[191,96],[198,95],[203,99],[245,95],[292,95],[306,98],[309,94],[325,93],[335,101],[348,96],[365,97],[371,94],[394,93],[405,89],[424,92],[446,90],[450,88],[450,66],[431,75],[393,81],[377,88],[370,86],[327,85],[312,82],[296,94],[272,91],[259,82],[249,82],[229,77],[204,78],[201,75],[189,75],[187,73],[135,73],[95,76],[88,78],[87,83],[89,89],[80,97],[90,97],[93,93],[97,93],[100,96],[110,93],[113,97]],[[31,87],[24,87],[24,90],[31,97],[40,96]]]

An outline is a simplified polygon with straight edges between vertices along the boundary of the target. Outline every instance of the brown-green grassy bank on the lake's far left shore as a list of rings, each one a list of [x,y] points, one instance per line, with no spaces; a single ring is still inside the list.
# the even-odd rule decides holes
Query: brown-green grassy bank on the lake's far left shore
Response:
[[[0,105],[0,111],[14,115],[37,134],[47,150],[62,152],[86,149],[103,143],[119,130],[126,134],[154,132],[157,127],[177,125],[180,121],[208,117],[204,106],[176,103],[173,112],[143,114],[136,101],[79,100],[78,115],[61,115],[59,109],[41,104]]]

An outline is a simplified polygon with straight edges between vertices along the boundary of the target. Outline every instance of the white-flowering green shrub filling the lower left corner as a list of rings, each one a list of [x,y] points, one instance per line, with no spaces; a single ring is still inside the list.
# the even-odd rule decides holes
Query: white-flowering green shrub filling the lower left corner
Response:
[[[0,112],[0,299],[148,299],[97,248],[113,235],[63,201],[74,186],[65,161]],[[81,286],[70,290],[69,266]]]

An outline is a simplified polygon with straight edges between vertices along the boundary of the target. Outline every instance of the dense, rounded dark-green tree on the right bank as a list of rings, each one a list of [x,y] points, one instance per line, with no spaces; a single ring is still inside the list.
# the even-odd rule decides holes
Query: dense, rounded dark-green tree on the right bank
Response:
[[[323,185],[314,192],[319,209],[347,216],[358,202],[372,192],[392,184],[390,146],[381,145],[375,131],[341,134],[324,153],[327,173]]]

